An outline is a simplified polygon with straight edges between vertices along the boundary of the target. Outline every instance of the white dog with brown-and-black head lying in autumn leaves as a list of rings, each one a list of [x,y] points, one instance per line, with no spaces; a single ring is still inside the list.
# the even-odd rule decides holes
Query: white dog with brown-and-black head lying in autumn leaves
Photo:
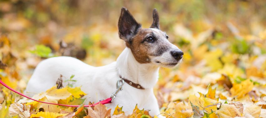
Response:
[[[126,47],[115,62],[94,67],[73,57],[45,59],[34,70],[24,93],[33,96],[33,93],[54,86],[60,74],[66,78],[74,74],[77,81],[73,86],[81,86],[81,90],[87,94],[84,97],[88,98],[85,104],[88,104],[88,101],[98,102],[110,97],[117,89],[117,80],[123,79],[123,89],[116,94],[111,104],[106,104],[112,108],[111,112],[119,105],[129,115],[137,104],[140,109],[150,110],[151,116],[163,117],[153,93],[159,67],[176,67],[181,63],[184,53],[170,43],[166,33],[160,30],[156,9],[152,17],[151,27],[141,28],[141,24],[122,7],[118,29]]]

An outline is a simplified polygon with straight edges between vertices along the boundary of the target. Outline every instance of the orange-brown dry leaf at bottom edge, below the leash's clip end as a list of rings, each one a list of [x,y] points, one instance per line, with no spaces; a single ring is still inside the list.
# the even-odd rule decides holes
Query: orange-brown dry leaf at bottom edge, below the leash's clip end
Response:
[[[88,116],[90,116],[90,118],[109,118],[111,116],[110,114],[111,109],[106,110],[105,105],[102,104],[95,105],[94,110],[92,110],[91,107],[88,107]]]

